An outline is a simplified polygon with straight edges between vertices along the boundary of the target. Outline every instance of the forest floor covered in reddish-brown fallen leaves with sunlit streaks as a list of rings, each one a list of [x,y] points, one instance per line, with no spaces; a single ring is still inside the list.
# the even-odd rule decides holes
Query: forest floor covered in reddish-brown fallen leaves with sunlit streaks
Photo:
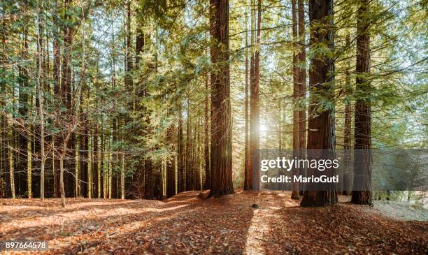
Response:
[[[0,199],[0,240],[47,240],[41,254],[428,252],[428,221],[388,217],[376,207],[299,207],[284,191],[204,195],[187,191],[166,201],[71,198],[66,208],[58,199]]]

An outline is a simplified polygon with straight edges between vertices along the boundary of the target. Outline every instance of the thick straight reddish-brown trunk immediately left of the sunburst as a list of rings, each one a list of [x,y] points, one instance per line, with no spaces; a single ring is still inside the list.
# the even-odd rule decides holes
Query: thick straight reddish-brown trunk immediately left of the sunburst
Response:
[[[232,184],[229,76],[229,1],[210,0],[211,34],[211,191],[234,192]]]

